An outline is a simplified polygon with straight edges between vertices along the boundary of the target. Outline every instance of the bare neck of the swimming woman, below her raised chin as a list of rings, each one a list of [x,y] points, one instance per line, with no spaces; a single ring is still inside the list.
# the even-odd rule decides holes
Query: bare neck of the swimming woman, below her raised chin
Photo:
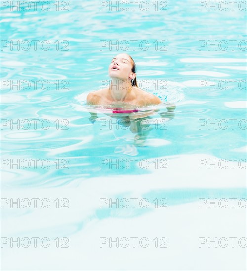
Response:
[[[112,78],[109,92],[114,101],[124,102],[132,91],[130,81]]]

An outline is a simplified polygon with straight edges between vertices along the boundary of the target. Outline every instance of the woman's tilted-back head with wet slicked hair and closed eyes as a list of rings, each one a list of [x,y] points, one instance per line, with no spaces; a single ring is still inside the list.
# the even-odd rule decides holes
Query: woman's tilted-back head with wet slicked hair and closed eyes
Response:
[[[137,86],[136,65],[132,57],[128,54],[122,53],[116,55],[109,65],[108,72],[111,78],[127,80],[132,86]]]

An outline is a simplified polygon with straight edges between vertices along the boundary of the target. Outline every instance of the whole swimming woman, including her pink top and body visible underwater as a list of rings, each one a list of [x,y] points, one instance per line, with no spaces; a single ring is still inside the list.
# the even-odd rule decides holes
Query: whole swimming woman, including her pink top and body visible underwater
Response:
[[[132,57],[128,54],[118,54],[112,59],[108,68],[111,77],[111,85],[102,90],[93,91],[87,96],[87,104],[110,106],[114,109],[132,109],[136,107],[145,107],[157,105],[162,101],[155,95],[138,88],[136,81],[136,65]],[[127,113],[123,110],[120,113]],[[129,113],[135,110],[129,110]],[[138,110],[137,110],[138,111]],[[110,114],[112,118],[119,119],[121,125],[129,126],[132,133],[137,135],[134,138],[136,146],[144,146],[144,142],[150,132],[149,123],[145,123],[145,129],[142,129],[142,121],[150,119],[150,115],[155,114],[157,110],[150,110],[138,114]],[[117,113],[118,111],[114,112]],[[96,113],[90,113],[89,120],[94,123],[97,119]],[[125,129],[124,129],[125,130]]]

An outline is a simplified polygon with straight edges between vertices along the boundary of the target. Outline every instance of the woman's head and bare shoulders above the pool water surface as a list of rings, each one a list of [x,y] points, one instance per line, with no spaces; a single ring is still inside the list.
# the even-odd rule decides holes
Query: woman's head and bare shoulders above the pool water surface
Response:
[[[138,88],[136,65],[130,55],[115,56],[108,72],[112,79],[110,87],[90,92],[87,104],[127,108],[129,105],[143,107],[162,103],[155,95]]]

